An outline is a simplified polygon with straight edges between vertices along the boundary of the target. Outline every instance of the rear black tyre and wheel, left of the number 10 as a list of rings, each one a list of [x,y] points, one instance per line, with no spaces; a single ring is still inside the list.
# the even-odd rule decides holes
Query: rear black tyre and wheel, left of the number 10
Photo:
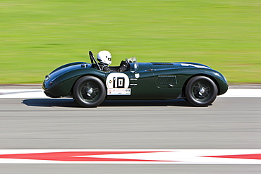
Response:
[[[102,80],[97,77],[80,77],[73,87],[73,99],[85,107],[102,104],[106,97],[106,89]]]

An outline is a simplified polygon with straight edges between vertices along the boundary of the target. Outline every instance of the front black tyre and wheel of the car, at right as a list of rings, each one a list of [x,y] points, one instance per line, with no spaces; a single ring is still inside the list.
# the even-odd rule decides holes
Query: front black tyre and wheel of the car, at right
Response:
[[[217,85],[209,77],[196,76],[188,81],[185,94],[194,106],[208,106],[217,98]]]

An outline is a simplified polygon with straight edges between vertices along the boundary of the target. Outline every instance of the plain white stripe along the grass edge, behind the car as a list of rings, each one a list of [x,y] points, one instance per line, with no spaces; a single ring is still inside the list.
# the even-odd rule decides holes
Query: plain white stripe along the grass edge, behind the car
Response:
[[[218,97],[261,97],[261,89],[229,89]],[[0,99],[46,99],[42,89],[0,89]]]

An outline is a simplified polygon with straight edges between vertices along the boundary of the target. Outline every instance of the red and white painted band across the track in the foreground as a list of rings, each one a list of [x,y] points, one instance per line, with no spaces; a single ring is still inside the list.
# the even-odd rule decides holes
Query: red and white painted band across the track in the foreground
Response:
[[[0,163],[261,164],[261,149],[6,149]]]

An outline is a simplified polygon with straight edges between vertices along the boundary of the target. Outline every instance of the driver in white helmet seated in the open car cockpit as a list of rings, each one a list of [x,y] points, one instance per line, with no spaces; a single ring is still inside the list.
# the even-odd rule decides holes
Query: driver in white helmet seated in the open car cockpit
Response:
[[[123,72],[124,70],[126,70],[125,63],[122,63],[117,70],[109,68],[109,65],[111,65],[111,53],[109,51],[99,51],[97,55],[97,60],[99,61],[99,66],[102,68],[103,71]]]

